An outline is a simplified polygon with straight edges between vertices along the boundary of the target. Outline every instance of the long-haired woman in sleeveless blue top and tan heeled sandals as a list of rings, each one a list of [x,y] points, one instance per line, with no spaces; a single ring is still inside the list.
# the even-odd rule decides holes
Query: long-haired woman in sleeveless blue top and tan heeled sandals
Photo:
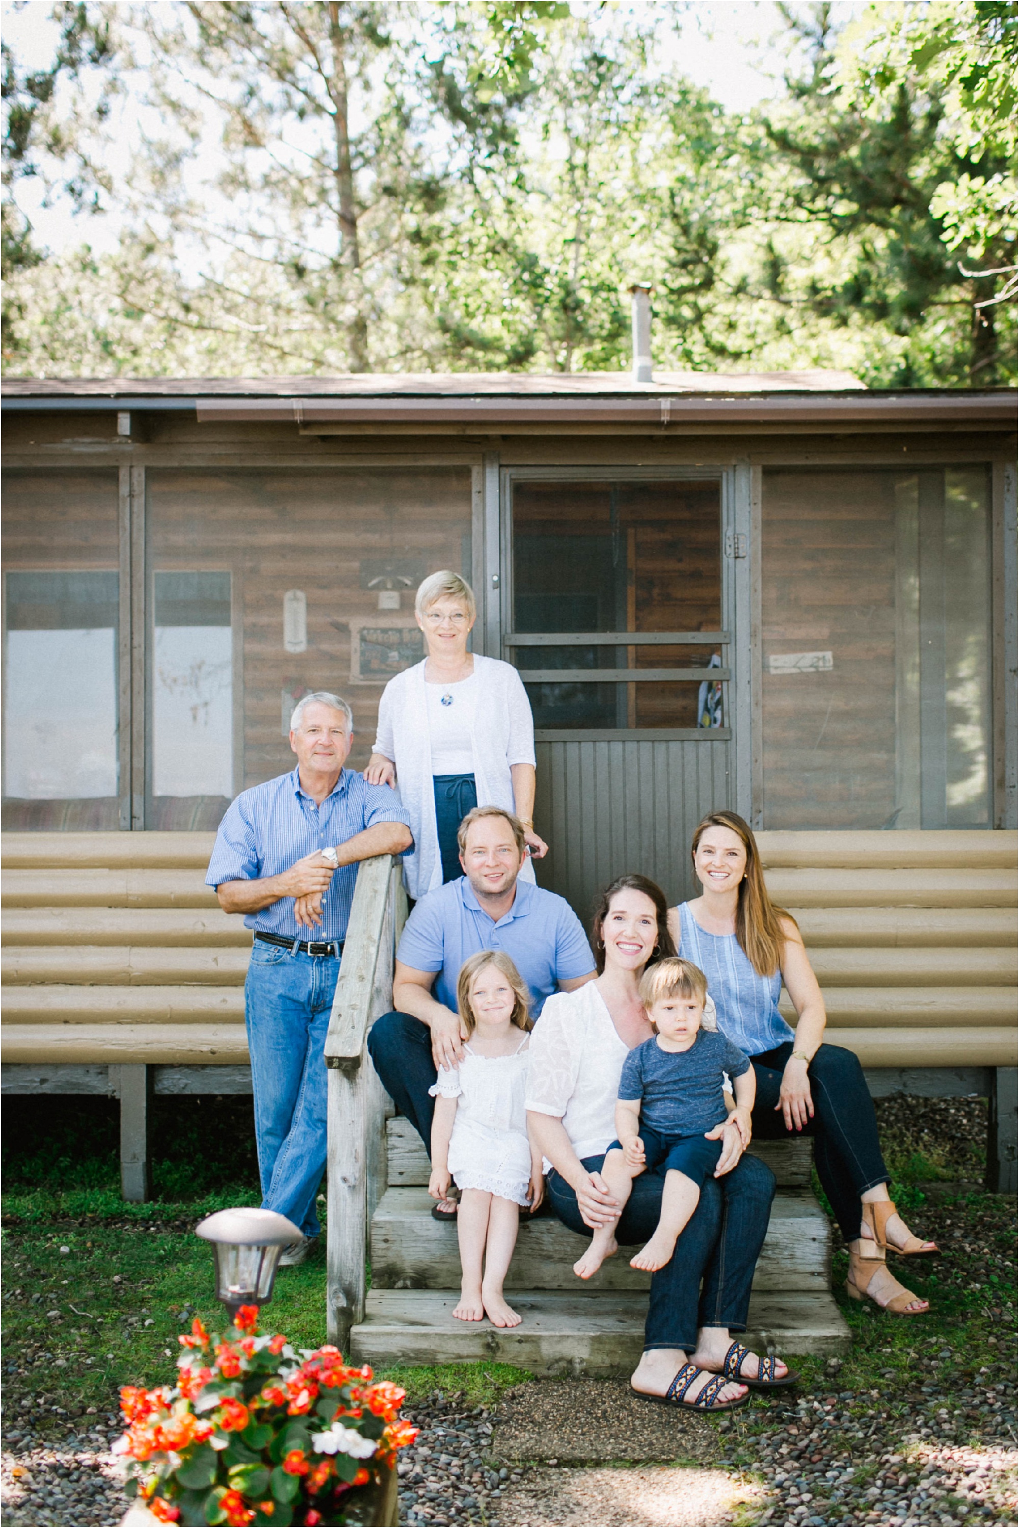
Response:
[[[755,1134],[813,1135],[817,1177],[849,1248],[849,1294],[894,1316],[923,1316],[927,1302],[892,1277],[885,1254],[938,1248],[895,1213],[863,1068],[852,1051],[823,1044],[820,987],[796,920],[768,897],[753,833],[735,811],[712,811],[691,854],[703,892],[669,914],[669,929],[707,976],[718,1027],[753,1062]],[[796,1031],[779,1012],[782,983]]]

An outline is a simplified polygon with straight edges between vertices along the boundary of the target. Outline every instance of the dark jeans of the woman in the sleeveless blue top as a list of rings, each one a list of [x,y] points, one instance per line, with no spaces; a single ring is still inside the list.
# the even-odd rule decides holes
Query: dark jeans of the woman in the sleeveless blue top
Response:
[[[788,1140],[782,1111],[775,1108],[782,1086],[785,1062],[793,1042],[752,1056],[758,1079],[753,1105],[753,1134],[758,1140]],[[814,1138],[814,1164],[820,1186],[836,1213],[846,1242],[860,1235],[860,1195],[888,1183],[888,1167],[877,1138],[877,1117],[863,1068],[852,1051],[842,1045],[820,1045],[807,1068],[814,1100],[814,1117],[804,1135]]]

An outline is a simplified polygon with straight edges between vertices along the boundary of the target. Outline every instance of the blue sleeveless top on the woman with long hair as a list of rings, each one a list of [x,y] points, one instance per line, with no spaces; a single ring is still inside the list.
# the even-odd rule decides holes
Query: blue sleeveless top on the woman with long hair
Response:
[[[680,955],[707,976],[718,1028],[744,1056],[759,1056],[793,1039],[793,1030],[779,1013],[782,973],[758,976],[736,935],[706,934],[695,923],[689,902],[680,903]]]

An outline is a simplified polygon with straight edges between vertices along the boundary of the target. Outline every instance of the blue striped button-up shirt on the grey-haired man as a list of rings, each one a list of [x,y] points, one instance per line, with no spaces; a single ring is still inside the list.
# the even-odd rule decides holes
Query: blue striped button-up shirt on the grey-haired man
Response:
[[[263,880],[281,876],[306,854],[345,843],[376,822],[409,827],[400,798],[388,785],[368,785],[364,775],[341,770],[335,790],[321,807],[301,790],[298,770],[252,785],[226,808],[215,834],[206,886],[225,880]],[[322,926],[302,929],[293,917],[293,897],[281,897],[261,912],[244,914],[249,929],[281,934],[289,940],[342,940],[354,897],[356,865],[333,872],[322,900]]]

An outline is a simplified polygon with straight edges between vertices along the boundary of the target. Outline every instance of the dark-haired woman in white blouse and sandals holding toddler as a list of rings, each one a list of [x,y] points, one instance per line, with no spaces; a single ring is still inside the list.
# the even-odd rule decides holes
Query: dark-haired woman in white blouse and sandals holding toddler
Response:
[[[548,1203],[581,1236],[619,1213],[600,1167],[616,1138],[623,1060],[652,1036],[637,987],[645,966],[675,953],[665,894],[645,876],[620,876],[602,892],[593,934],[599,976],[545,999],[527,1083],[532,1141],[552,1164]],[[779,1358],[758,1358],[730,1340],[747,1329],[775,1178],[762,1161],[742,1157],[747,1141],[735,1120],[710,1134],[723,1141],[718,1177],[704,1184],[672,1261],[651,1277],[645,1351],[631,1386],[648,1400],[729,1410],[747,1400],[747,1387],[773,1389],[793,1377]],[[634,1180],[616,1229],[620,1244],[654,1232],[663,1183],[660,1172]]]

